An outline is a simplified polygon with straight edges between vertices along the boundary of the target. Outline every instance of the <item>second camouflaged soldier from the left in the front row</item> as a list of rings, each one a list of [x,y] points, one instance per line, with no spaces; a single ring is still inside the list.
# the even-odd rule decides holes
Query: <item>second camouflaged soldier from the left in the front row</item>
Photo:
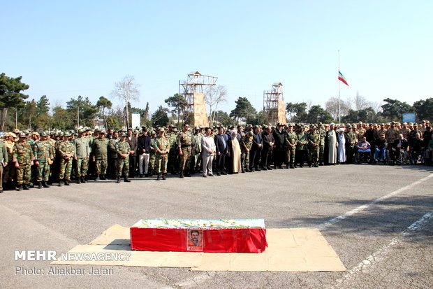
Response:
[[[33,146],[34,164],[38,166],[36,183],[39,189],[42,187],[50,188],[47,181],[50,178],[50,162],[54,158],[54,148],[47,141],[47,137],[48,134],[46,132],[41,132],[41,140],[36,141]]]

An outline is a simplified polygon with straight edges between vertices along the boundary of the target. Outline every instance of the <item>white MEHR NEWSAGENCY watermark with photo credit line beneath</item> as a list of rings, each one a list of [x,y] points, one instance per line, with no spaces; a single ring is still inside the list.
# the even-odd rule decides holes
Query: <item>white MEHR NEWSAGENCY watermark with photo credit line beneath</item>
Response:
[[[15,261],[60,261],[60,262],[116,262],[129,261],[131,253],[107,252],[107,253],[57,253],[55,250],[15,250]],[[94,275],[108,276],[114,274],[114,267],[89,266],[75,267],[71,265],[56,265],[48,268],[36,266],[17,266],[14,268],[15,275]]]

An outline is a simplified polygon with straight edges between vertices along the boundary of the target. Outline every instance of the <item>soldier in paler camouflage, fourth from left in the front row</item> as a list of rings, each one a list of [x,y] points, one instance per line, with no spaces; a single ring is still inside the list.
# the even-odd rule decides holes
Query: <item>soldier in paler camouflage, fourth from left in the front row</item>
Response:
[[[75,173],[77,174],[77,183],[86,183],[87,165],[89,164],[89,141],[85,138],[85,130],[78,129],[78,138],[73,140]]]

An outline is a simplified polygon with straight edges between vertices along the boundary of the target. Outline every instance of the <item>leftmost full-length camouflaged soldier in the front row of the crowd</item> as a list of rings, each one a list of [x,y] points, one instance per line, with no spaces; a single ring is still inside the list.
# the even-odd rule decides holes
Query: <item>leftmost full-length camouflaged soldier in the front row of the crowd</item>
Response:
[[[30,167],[33,165],[33,149],[26,141],[27,135],[23,132],[20,133],[20,141],[15,143],[13,148],[13,162],[17,169],[17,189],[18,191],[24,189],[29,190],[30,183]]]

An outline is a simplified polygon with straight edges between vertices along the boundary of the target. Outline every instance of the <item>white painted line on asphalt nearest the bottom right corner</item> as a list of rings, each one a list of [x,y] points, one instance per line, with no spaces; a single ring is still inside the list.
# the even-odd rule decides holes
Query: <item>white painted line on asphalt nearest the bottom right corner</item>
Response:
[[[362,270],[366,269],[367,267],[374,265],[380,260],[383,260],[383,258],[385,258],[385,256],[388,255],[388,253],[390,252],[393,246],[399,244],[405,236],[415,231],[423,229],[425,224],[430,220],[430,218],[432,218],[432,216],[433,216],[433,211],[426,213],[415,223],[407,227],[406,230],[401,232],[398,237],[395,237],[388,244],[380,248],[379,251],[376,251],[372,255],[369,255],[367,258],[365,258],[365,260],[362,260],[361,262],[358,263],[358,265],[350,269],[346,274],[342,276],[341,279],[337,280],[337,286],[334,286],[332,288],[338,288],[338,286],[342,286],[343,284],[347,283],[348,280],[351,279],[351,277],[354,274],[358,274],[359,272],[362,272]]]

